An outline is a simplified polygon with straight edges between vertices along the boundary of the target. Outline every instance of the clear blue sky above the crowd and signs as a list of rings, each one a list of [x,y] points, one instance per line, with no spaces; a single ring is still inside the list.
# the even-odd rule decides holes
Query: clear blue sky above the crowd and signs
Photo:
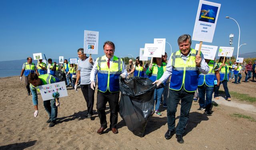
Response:
[[[234,55],[256,52],[256,1],[210,0],[221,4],[212,43],[230,46],[234,34]],[[0,61],[20,60],[42,52],[47,58],[77,57],[76,50],[84,45],[84,30],[99,31],[98,55],[104,55],[103,43],[116,45],[116,56],[139,56],[139,49],[154,38],[166,38],[172,51],[178,50],[182,34],[192,36],[199,0],[1,0]],[[192,48],[198,41],[192,41]],[[168,58],[170,46],[166,44]],[[256,57],[256,56],[255,56]]]

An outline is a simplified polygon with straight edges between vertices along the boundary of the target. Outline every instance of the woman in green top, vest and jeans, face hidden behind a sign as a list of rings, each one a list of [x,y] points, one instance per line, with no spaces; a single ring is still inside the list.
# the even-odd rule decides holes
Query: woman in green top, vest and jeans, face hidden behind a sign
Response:
[[[166,63],[162,62],[162,58],[153,58],[153,64],[148,66],[148,70],[146,71],[146,75],[148,78],[155,82],[156,80],[160,79],[166,70]],[[154,106],[152,107],[151,114],[156,114],[157,116],[162,116],[162,114],[158,111],[161,100],[162,94],[164,92],[164,86],[166,82],[160,84],[154,91],[154,103],[156,102],[155,112]]]

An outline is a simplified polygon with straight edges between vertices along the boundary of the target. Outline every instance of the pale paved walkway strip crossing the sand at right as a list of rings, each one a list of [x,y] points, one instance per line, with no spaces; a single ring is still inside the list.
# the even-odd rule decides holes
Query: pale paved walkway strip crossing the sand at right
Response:
[[[219,98],[220,98],[219,100],[216,100],[212,96],[212,101],[216,102],[217,104],[223,104],[223,105],[226,105],[226,106],[239,108],[239,109],[242,109],[242,110],[246,110],[247,112],[256,114],[256,107],[253,106],[253,105],[250,105],[250,104],[240,104],[240,103],[234,102],[232,100],[231,101],[227,101],[227,100],[225,100],[225,98],[223,98],[221,96]]]

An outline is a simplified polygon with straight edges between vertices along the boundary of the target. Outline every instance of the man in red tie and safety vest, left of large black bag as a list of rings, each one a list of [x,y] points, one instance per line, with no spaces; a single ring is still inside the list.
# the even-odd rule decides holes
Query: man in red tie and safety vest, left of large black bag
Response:
[[[97,92],[97,111],[100,118],[100,128],[97,133],[102,134],[107,128],[106,121],[106,103],[110,107],[110,128],[114,134],[118,133],[116,128],[118,119],[118,102],[119,102],[119,76],[126,78],[127,70],[121,58],[114,56],[115,45],[113,42],[107,41],[103,45],[104,56],[96,59],[93,65],[90,80],[91,88],[94,90],[94,78],[98,74],[98,92]]]

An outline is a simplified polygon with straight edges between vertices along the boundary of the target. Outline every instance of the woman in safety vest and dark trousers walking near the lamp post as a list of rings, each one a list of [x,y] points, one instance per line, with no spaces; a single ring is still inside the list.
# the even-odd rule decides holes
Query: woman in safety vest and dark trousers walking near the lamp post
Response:
[[[230,94],[228,92],[228,79],[229,79],[229,65],[226,64],[226,58],[225,58],[225,62],[223,62],[224,60],[224,57],[220,57],[220,60],[218,62],[218,67],[219,67],[219,72],[220,72],[220,84],[223,84],[223,88],[224,88],[224,91],[225,91],[225,94],[226,94],[226,100],[228,101],[231,101],[231,97],[230,97]],[[216,86],[215,87],[215,91],[214,91],[214,98],[216,100],[219,99],[219,89],[220,89],[220,86]]]

